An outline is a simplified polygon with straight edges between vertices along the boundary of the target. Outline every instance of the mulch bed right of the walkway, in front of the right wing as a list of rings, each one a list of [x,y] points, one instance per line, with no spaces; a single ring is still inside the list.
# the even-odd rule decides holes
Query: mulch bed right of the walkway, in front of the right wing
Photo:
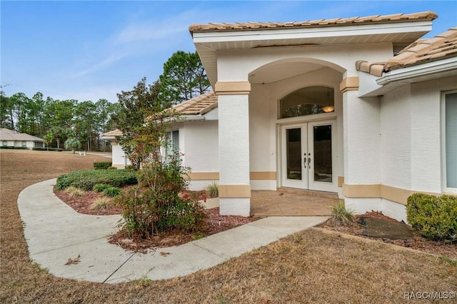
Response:
[[[380,212],[367,212],[365,214],[357,215],[357,218],[383,218],[386,221],[393,221],[398,222],[393,218],[389,218],[388,216],[384,216],[383,213]],[[392,240],[390,238],[374,238],[363,235],[363,226],[356,225],[356,226],[333,226],[331,220],[322,223],[320,228],[324,228],[327,230],[338,231],[341,233],[349,234],[349,235],[357,235],[362,238],[370,238],[372,240],[380,240],[384,243],[391,243],[394,245],[399,245],[403,247],[408,247],[416,250],[421,250],[426,253],[432,253],[435,255],[443,255],[448,258],[457,259],[457,243],[443,243],[440,241],[433,241],[427,240],[419,235],[416,231],[413,231],[414,238],[411,240]]]

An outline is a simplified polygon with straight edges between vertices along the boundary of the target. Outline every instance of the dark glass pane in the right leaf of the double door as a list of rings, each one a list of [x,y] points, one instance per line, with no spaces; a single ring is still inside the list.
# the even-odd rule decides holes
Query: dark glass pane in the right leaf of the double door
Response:
[[[313,127],[314,181],[332,182],[331,125]]]

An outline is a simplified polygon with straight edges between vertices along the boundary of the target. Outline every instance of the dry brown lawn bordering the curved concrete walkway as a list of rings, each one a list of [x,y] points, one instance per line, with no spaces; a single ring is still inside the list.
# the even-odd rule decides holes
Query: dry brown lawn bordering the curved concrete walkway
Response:
[[[405,293],[457,292],[457,261],[318,229],[183,278],[116,285],[54,278],[29,259],[17,196],[106,158],[22,150],[0,157],[0,303],[410,303]]]

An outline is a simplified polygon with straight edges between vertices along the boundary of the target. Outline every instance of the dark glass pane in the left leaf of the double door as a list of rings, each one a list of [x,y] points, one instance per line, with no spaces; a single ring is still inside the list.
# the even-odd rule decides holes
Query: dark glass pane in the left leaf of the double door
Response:
[[[287,178],[301,180],[301,128],[286,130]]]

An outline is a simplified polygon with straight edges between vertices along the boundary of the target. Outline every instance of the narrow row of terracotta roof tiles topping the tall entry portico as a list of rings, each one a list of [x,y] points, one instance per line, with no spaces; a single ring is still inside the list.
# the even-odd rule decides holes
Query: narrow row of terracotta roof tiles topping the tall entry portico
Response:
[[[246,22],[224,24],[192,24],[189,26],[191,33],[202,31],[248,31],[262,29],[296,29],[303,27],[348,26],[358,24],[382,24],[403,21],[423,21],[436,19],[438,15],[433,11],[423,11],[415,14],[375,15],[367,17],[320,19],[314,21],[291,22]]]

